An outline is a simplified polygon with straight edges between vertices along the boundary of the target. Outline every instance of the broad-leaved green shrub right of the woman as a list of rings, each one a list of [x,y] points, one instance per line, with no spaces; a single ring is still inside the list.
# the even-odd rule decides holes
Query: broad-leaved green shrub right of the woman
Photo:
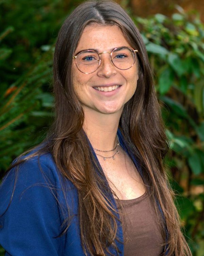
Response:
[[[193,255],[204,247],[204,26],[197,13],[135,18],[146,43],[171,153],[166,162]],[[193,242],[194,241],[194,242]]]

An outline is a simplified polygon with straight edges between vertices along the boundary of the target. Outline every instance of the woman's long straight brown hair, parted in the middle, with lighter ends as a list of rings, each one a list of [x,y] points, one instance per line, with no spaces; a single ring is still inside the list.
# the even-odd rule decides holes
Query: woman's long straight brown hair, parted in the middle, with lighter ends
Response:
[[[72,86],[72,56],[85,26],[117,25],[126,40],[138,50],[138,83],[134,96],[125,104],[120,129],[125,143],[142,167],[156,217],[162,231],[166,255],[191,255],[180,230],[173,192],[163,167],[168,143],[154,91],[149,60],[138,29],[129,15],[112,1],[86,1],[65,20],[54,53],[55,121],[38,154],[49,151],[61,174],[78,189],[79,223],[84,253],[106,255],[116,247],[117,217],[108,199],[110,188],[98,166],[83,131],[84,113]],[[96,171],[98,169],[98,171]],[[104,193],[107,191],[107,193]],[[162,210],[160,211],[159,210]],[[64,234],[69,226],[65,223]]]

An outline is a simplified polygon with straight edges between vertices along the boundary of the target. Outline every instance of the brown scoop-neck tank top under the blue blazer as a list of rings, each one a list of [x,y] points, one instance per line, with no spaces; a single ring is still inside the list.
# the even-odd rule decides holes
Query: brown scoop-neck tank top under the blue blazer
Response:
[[[126,227],[124,235],[124,256],[158,256],[162,253],[164,243],[155,220],[147,191],[142,196],[131,200],[115,199],[123,206],[122,226]]]

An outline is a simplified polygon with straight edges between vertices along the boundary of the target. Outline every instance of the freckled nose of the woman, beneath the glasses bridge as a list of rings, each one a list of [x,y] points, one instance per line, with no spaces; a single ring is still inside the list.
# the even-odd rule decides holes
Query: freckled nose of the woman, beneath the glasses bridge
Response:
[[[101,56],[103,54],[103,56]],[[111,61],[111,54],[109,52],[103,52],[100,54],[101,63],[98,68],[98,75],[110,77],[117,73],[117,68],[113,65]]]

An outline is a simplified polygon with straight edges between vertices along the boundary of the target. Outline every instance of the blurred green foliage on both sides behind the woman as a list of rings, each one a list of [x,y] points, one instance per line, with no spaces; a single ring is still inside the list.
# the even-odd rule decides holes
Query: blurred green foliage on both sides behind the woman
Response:
[[[43,140],[52,122],[54,43],[78,2],[0,0],[0,177],[16,156]],[[170,18],[133,19],[155,75],[182,227],[193,255],[204,256],[204,26],[197,13],[181,8]]]

